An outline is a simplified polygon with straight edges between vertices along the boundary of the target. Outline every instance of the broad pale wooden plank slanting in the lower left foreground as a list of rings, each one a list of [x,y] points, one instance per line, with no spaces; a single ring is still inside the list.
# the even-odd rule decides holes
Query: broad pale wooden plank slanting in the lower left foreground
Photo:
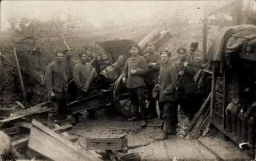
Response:
[[[61,135],[32,120],[28,147],[53,160],[101,160],[89,151],[76,147]]]

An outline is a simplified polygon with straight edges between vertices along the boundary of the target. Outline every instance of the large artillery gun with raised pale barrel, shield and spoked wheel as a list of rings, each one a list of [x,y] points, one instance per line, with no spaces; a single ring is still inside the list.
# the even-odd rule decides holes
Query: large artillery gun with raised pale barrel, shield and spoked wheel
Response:
[[[138,44],[142,53],[145,53],[145,44],[148,41],[153,41],[155,50],[158,50],[170,37],[169,31],[160,32],[155,29]],[[135,42],[127,39],[98,42],[99,47],[103,49],[104,57],[114,63],[99,61],[96,58],[91,61],[98,73],[97,78],[92,82],[91,90],[86,95],[67,104],[71,107],[73,114],[92,108],[114,105],[113,110],[120,111],[125,117],[131,117],[130,96],[120,76],[126,59],[131,56],[127,52],[131,43]],[[102,68],[102,66],[104,67]]]

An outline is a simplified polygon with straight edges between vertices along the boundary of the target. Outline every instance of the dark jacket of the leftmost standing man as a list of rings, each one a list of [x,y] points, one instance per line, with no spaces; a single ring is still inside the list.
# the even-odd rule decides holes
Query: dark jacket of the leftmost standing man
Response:
[[[63,63],[53,61],[46,68],[45,84],[48,90],[62,94],[67,90],[68,72]]]

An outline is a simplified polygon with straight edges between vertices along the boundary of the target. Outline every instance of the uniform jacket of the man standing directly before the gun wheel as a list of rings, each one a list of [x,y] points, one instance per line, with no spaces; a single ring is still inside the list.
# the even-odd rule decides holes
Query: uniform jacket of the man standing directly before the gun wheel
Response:
[[[131,70],[137,70],[137,73],[132,76]],[[144,57],[138,55],[137,57],[130,57],[126,60],[122,76],[127,78],[126,86],[127,88],[137,88],[145,86],[144,76],[148,72],[148,67]]]

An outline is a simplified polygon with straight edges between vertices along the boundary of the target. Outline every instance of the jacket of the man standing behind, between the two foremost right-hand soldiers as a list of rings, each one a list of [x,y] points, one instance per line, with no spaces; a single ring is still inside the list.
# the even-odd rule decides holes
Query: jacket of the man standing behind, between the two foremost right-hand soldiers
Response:
[[[146,53],[144,55],[146,63],[148,64],[148,73],[145,76],[146,85],[155,85],[158,82],[159,70],[160,70],[160,53],[154,51],[153,53]],[[157,63],[156,65],[149,65],[151,63]]]

